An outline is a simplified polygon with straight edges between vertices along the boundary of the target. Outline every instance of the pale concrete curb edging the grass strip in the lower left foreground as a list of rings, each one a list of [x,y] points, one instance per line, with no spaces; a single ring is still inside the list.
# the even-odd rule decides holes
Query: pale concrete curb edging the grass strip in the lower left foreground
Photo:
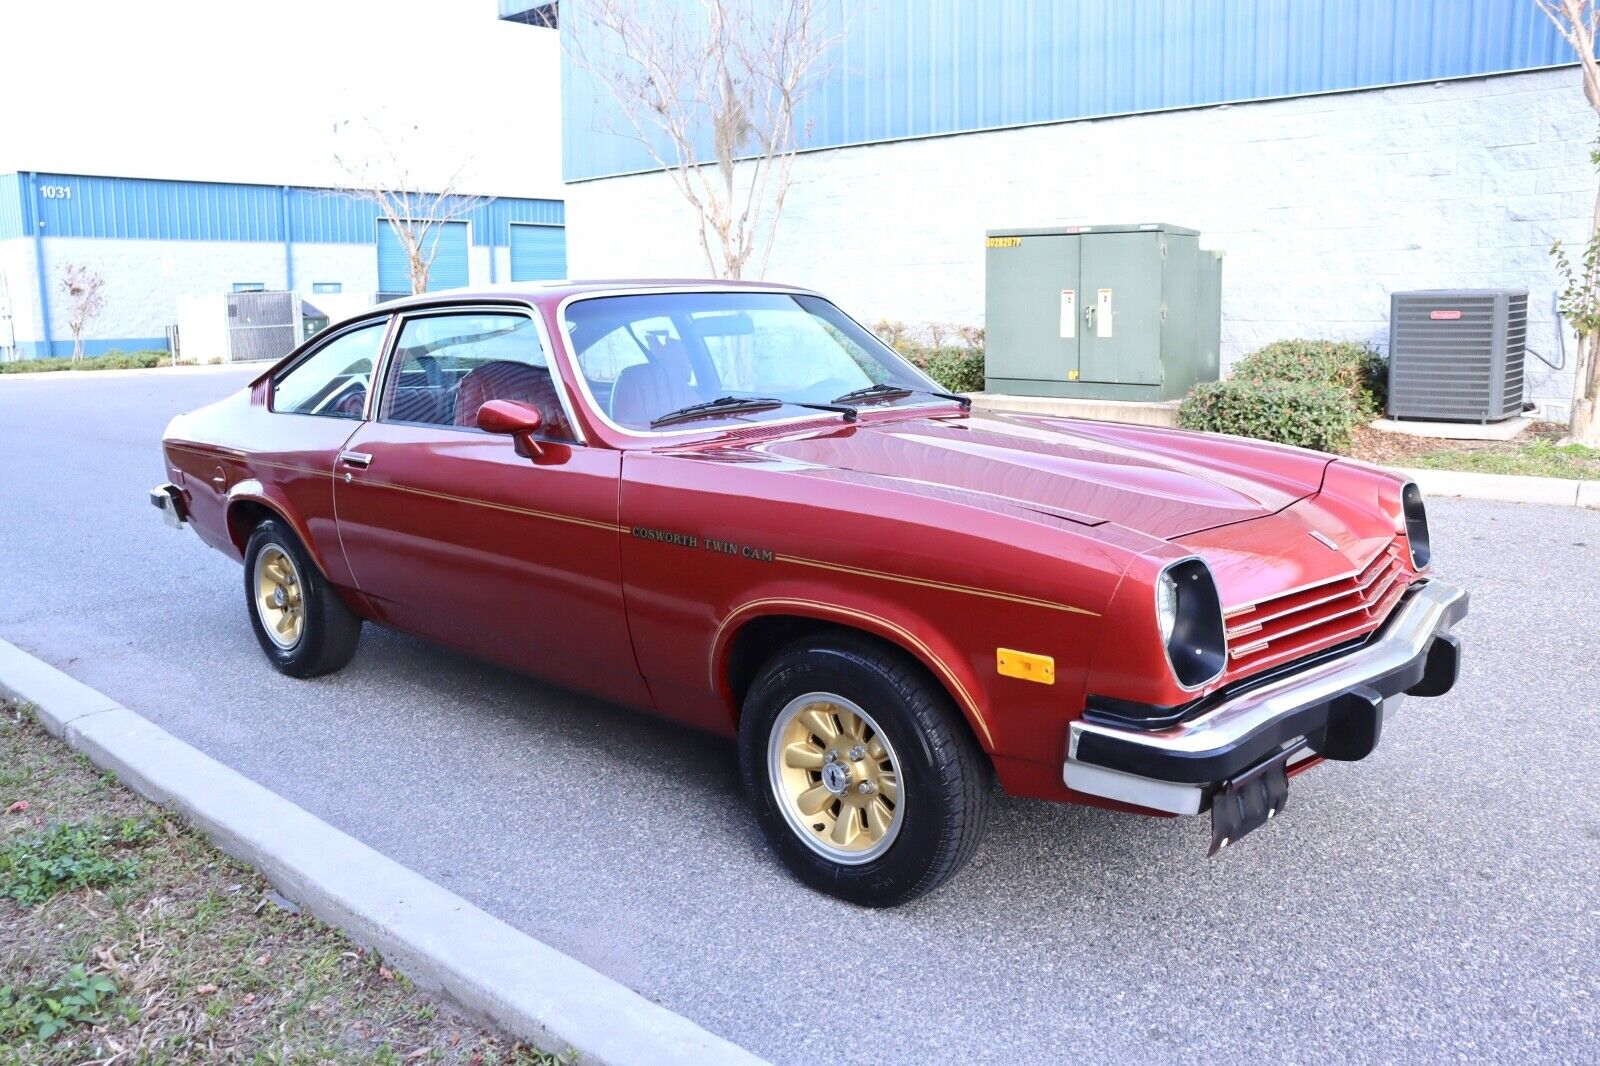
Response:
[[[592,1063],[763,1060],[501,922],[0,640],[0,693],[141,795],[181,812],[285,896],[419,988]]]

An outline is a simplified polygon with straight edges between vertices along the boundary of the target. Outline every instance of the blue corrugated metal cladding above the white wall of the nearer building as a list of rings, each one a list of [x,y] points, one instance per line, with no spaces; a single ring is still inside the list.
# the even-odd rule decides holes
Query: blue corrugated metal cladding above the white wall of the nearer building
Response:
[[[694,19],[698,5],[680,3]],[[584,6],[563,0],[563,34],[586,30]],[[830,0],[827,11],[843,42],[798,115],[805,149],[1571,62],[1531,0]],[[571,61],[562,98],[570,181],[651,166]]]

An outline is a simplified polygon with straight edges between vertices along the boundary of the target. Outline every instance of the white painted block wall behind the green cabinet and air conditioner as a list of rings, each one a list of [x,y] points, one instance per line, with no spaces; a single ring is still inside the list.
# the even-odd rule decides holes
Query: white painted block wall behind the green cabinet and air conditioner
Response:
[[[1387,347],[1390,291],[1464,287],[1526,288],[1554,359],[1549,246],[1587,237],[1594,138],[1562,67],[808,152],[766,277],[866,322],[981,323],[986,229],[1163,221],[1226,253],[1224,365],[1290,336]],[[704,275],[691,226],[661,174],[566,186],[573,277]],[[1570,373],[1528,363],[1565,419]]]

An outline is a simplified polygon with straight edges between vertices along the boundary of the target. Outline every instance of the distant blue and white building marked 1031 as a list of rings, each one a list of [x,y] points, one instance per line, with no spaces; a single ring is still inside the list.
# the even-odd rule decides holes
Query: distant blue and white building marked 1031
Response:
[[[560,200],[488,200],[434,243],[429,290],[566,274]],[[106,311],[85,333],[90,354],[165,347],[179,296],[291,290],[349,306],[411,291],[394,230],[349,192],[0,174],[0,349],[72,351],[58,291],[69,262],[106,282]]]

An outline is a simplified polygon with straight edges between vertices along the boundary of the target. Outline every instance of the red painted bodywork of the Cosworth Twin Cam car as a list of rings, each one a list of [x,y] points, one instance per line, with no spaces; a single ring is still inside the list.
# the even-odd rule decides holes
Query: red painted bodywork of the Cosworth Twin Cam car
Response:
[[[1403,528],[1395,475],[1181,431],[934,402],[856,423],[629,432],[590,407],[558,314],[627,287],[450,298],[542,317],[587,443],[530,461],[477,431],[275,413],[274,370],[170,426],[194,527],[238,557],[266,507],[371,621],[725,735],[741,642],[792,624],[773,619],[862,629],[946,687],[1010,792],[1106,807],[1122,805],[1061,775],[1091,693],[1171,706],[1267,663],[1238,658],[1182,688],[1152,624],[1165,565],[1200,555],[1230,619],[1266,618],[1285,595],[1315,599],[1296,591],[1342,591]],[[371,464],[341,466],[341,450]],[[1418,576],[1398,557],[1395,595]],[[1315,650],[1381,621],[1370,610],[1282,639]],[[1000,674],[998,648],[1051,656],[1053,683]]]

